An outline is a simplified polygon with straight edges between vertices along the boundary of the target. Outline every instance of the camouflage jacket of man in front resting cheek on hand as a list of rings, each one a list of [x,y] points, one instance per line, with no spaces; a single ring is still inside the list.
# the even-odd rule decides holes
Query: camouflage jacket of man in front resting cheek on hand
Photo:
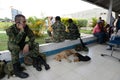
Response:
[[[28,37],[28,44],[34,42],[35,36],[32,30],[26,25],[24,31],[20,31],[15,24],[6,29],[6,34],[8,35],[8,45],[13,43],[16,45],[21,45],[25,43],[26,37]]]

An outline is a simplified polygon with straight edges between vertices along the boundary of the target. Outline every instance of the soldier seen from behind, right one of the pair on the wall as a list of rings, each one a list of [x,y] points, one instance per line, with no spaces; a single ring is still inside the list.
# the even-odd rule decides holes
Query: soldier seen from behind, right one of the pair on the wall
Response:
[[[75,40],[80,37],[79,29],[72,19],[68,20],[68,32],[66,33],[66,39]]]

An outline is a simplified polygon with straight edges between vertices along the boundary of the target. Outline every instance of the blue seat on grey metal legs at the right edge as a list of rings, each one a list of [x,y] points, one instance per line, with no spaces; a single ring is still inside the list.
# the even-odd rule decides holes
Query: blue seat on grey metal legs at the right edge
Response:
[[[112,46],[111,54],[110,55],[101,54],[101,56],[110,56],[120,61],[120,58],[113,56],[113,52],[115,51],[115,48],[120,48],[120,37],[116,37],[114,40],[109,41],[108,44]]]

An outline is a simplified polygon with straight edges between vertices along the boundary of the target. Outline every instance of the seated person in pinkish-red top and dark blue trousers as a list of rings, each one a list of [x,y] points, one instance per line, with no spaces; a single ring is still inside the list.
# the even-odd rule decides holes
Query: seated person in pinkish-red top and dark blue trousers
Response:
[[[106,32],[104,31],[104,27],[102,22],[98,22],[96,26],[93,28],[93,35],[97,37],[98,43],[105,43]]]

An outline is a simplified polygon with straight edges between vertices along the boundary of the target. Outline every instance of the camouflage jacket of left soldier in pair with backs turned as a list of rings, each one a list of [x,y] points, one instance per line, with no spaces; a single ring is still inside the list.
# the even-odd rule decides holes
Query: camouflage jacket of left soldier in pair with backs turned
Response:
[[[64,38],[65,37],[65,26],[60,21],[55,22],[52,26],[53,38]]]

